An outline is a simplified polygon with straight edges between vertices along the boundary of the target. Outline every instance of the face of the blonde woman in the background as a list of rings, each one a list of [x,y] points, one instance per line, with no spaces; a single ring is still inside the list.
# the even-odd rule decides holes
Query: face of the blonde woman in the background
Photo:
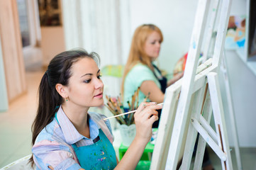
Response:
[[[144,50],[145,53],[153,61],[159,56],[161,47],[161,36],[157,31],[153,31],[145,41]]]

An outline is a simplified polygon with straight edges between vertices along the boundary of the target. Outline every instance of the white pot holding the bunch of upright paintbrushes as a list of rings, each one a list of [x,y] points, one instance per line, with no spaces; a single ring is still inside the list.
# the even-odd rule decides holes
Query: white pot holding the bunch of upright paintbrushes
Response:
[[[122,142],[124,146],[130,146],[131,142],[133,142],[134,137],[136,135],[136,127],[135,124],[132,125],[120,125],[119,126]]]

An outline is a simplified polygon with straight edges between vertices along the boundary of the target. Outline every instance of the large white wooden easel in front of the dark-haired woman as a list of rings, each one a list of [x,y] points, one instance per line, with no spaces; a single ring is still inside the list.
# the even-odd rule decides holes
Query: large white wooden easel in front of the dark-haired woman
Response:
[[[206,142],[221,159],[223,169],[233,169],[217,78],[228,26],[230,1],[223,0],[221,4],[219,20],[221,24],[218,24],[213,60],[208,60],[199,66],[196,74],[208,4],[209,1],[199,0],[183,82],[177,81],[167,88],[151,169],[177,169],[182,157],[182,169],[189,169],[198,132],[204,140],[199,139],[194,169],[201,169]],[[216,132],[209,125],[212,110]],[[203,111],[204,115],[201,115]],[[184,143],[186,136],[187,140]],[[182,154],[184,146],[184,154]],[[169,151],[166,152],[168,147]]]

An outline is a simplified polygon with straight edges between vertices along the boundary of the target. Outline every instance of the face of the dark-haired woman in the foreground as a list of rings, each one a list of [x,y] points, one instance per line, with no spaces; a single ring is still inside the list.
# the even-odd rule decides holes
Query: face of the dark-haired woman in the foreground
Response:
[[[68,102],[79,106],[101,106],[104,103],[104,84],[96,62],[84,57],[72,65],[72,76],[67,86]]]

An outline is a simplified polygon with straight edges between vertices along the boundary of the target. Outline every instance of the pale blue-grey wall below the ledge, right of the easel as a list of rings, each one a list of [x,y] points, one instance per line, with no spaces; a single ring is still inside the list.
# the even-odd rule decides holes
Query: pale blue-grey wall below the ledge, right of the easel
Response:
[[[235,51],[227,51],[226,60],[240,147],[256,147],[255,74],[250,71]],[[230,145],[233,146],[230,118],[228,117],[228,103],[226,101],[226,89],[222,80],[223,77],[220,77],[224,112],[227,113],[226,125],[228,127],[228,140]]]

